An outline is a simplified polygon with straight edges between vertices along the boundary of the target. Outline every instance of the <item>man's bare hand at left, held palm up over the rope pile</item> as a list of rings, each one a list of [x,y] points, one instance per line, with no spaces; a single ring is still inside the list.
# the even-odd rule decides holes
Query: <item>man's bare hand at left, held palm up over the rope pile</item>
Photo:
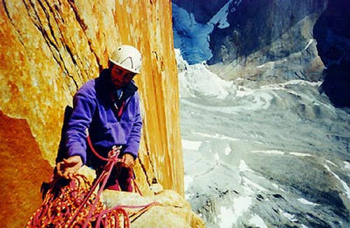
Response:
[[[63,178],[71,179],[81,166],[83,166],[81,157],[79,155],[72,156],[57,163],[57,174]]]

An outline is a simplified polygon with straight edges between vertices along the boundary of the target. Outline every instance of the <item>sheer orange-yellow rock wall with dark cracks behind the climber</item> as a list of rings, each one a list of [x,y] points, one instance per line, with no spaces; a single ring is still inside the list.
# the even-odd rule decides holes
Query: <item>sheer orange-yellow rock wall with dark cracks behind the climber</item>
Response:
[[[171,20],[167,1],[1,1],[0,110],[1,128],[8,129],[1,133],[1,158],[18,156],[18,168],[1,166],[1,180],[6,180],[1,192],[17,186],[23,172],[36,171],[30,187],[36,194],[27,191],[27,183],[6,191],[8,199],[20,195],[20,202],[1,204],[1,214],[8,208],[22,216],[1,219],[1,227],[23,227],[31,206],[40,203],[37,192],[41,181],[50,178],[65,106],[78,87],[106,68],[109,52],[122,43],[136,46],[144,58],[135,78],[144,120],[135,167],[141,191],[152,194],[149,186],[160,183],[183,195]],[[21,119],[18,126],[29,127],[17,134],[20,138],[10,131],[15,131],[15,119]],[[38,148],[20,144],[27,141]],[[25,150],[15,154],[16,145]],[[30,180],[34,173],[26,175]],[[21,206],[14,207],[17,203]]]

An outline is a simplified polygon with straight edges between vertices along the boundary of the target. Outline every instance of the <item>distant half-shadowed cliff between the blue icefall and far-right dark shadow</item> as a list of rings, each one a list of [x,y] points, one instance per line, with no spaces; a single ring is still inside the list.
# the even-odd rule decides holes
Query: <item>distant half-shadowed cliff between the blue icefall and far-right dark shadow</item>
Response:
[[[210,69],[222,78],[264,83],[320,80],[323,63],[312,29],[326,3],[265,0],[241,1],[237,6],[232,1],[230,26],[216,26],[210,35]]]

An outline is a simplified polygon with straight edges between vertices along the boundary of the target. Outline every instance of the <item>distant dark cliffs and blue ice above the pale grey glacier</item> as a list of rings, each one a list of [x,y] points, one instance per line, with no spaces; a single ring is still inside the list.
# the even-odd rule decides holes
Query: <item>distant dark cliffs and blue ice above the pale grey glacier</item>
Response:
[[[337,107],[349,107],[349,1],[174,0],[176,48],[189,64],[244,85],[288,80],[324,80]],[[188,13],[183,28],[177,6]],[[181,17],[186,16],[182,13]],[[193,25],[195,24],[195,25]],[[195,27],[195,32],[191,31]],[[181,38],[178,38],[180,36]],[[181,40],[181,41],[179,41]],[[195,40],[191,49],[188,40]],[[208,43],[198,48],[197,43]],[[197,45],[197,46],[196,46]],[[197,52],[197,56],[195,55]],[[194,54],[195,53],[195,54]]]

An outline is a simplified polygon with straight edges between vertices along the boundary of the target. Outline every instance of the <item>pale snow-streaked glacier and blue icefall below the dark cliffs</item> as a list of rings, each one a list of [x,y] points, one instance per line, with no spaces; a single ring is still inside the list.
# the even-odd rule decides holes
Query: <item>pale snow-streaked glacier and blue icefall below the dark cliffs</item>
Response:
[[[246,69],[260,70],[255,80],[238,71],[235,60],[228,63],[235,77],[214,73],[206,63],[213,56],[211,22],[225,24],[233,4],[244,6],[220,3],[205,24],[173,3],[186,197],[193,210],[208,227],[349,227],[349,110],[335,108],[319,91],[321,76],[286,77],[296,65],[283,58],[246,62]],[[297,72],[307,72],[308,61],[318,57],[314,49],[310,55],[312,42],[287,57],[303,59]],[[263,53],[252,55],[266,59]]]

